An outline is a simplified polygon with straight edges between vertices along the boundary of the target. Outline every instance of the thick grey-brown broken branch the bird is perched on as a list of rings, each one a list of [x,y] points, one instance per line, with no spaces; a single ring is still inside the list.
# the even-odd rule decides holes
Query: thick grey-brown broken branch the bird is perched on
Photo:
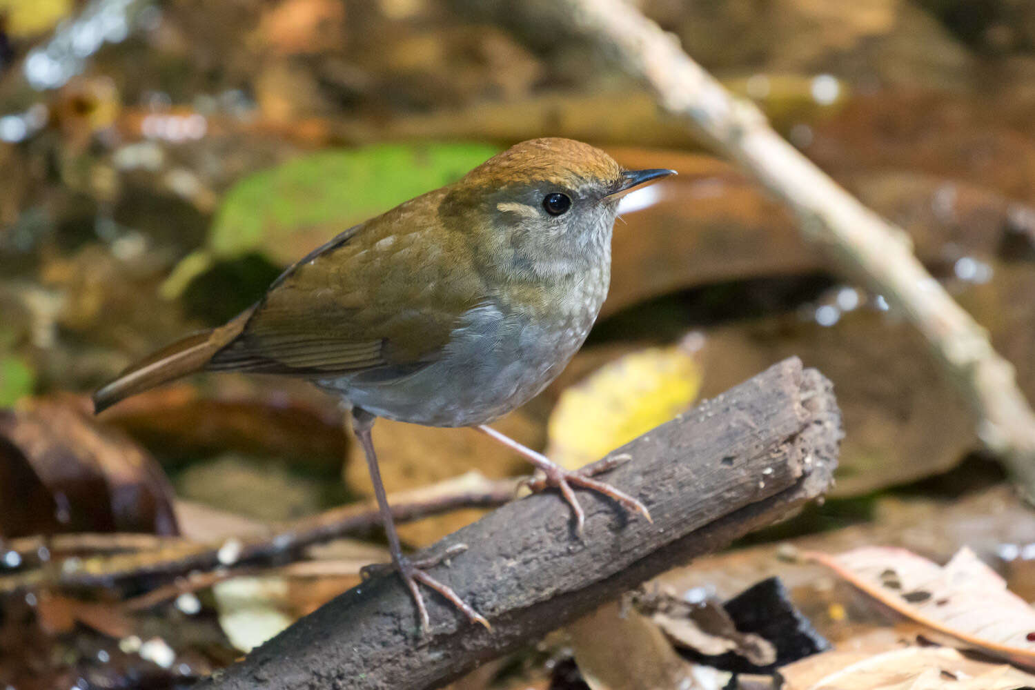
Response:
[[[841,437],[830,382],[797,358],[760,373],[612,455],[603,478],[654,518],[586,491],[585,540],[554,492],[503,506],[428,549],[469,549],[433,575],[492,622],[471,625],[434,595],[421,637],[394,575],[357,587],[201,688],[435,688],[572,621],[657,573],[780,519],[830,485]]]

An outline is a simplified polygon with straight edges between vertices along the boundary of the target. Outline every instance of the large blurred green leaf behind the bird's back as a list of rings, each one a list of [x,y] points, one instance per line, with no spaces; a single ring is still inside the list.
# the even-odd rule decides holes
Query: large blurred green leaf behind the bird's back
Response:
[[[176,297],[213,262],[247,252],[286,266],[357,222],[460,179],[499,150],[380,144],[321,151],[249,175],[227,193],[206,247],[176,267],[162,292]]]

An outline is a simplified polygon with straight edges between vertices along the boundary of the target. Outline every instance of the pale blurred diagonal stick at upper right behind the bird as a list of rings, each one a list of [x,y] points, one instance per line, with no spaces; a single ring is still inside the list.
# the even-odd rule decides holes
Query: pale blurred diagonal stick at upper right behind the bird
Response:
[[[523,21],[598,46],[645,82],[661,108],[794,209],[808,240],[884,295],[923,334],[970,403],[981,442],[1035,500],[1035,413],[1013,367],[917,261],[905,231],[838,186],[777,134],[758,108],[730,94],[630,3],[557,0],[529,3],[522,11],[534,13]]]

